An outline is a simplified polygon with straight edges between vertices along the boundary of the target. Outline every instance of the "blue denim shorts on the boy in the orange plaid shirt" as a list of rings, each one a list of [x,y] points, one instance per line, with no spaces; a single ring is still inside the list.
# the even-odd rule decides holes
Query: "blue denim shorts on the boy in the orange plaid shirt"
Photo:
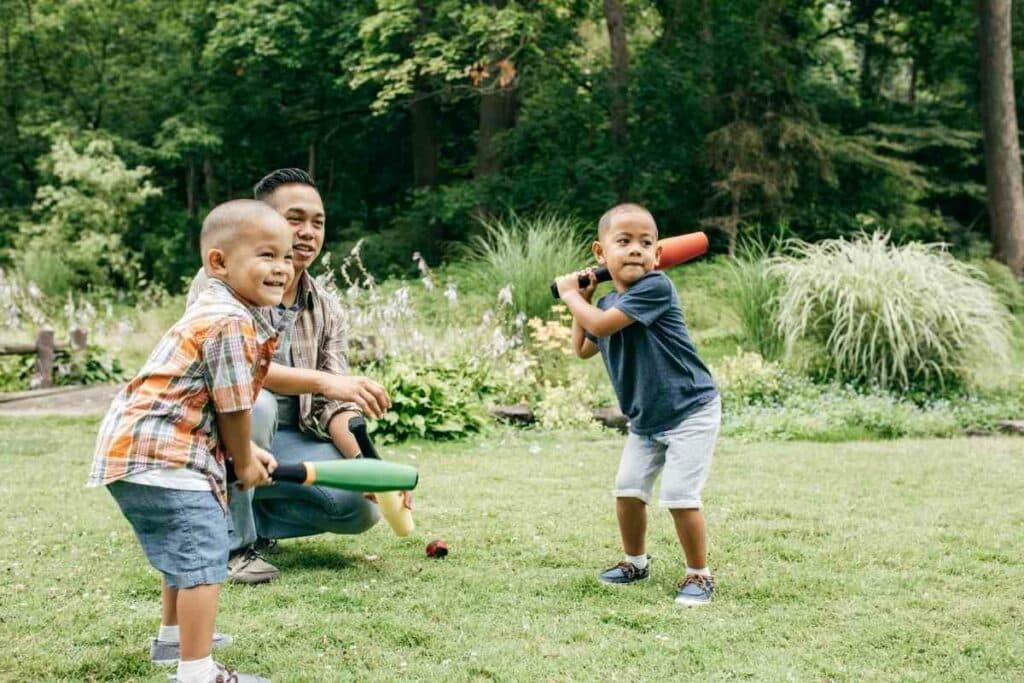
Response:
[[[227,579],[227,517],[210,490],[115,481],[106,486],[169,588]]]

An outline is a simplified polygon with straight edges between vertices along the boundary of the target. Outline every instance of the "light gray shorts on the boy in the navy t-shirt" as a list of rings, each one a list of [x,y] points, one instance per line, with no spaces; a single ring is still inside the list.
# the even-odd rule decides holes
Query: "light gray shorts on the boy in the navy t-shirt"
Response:
[[[663,469],[663,508],[700,508],[700,492],[711,472],[711,459],[722,422],[722,399],[708,401],[672,429],[649,436],[630,432],[615,475],[615,498],[650,503],[654,479]]]

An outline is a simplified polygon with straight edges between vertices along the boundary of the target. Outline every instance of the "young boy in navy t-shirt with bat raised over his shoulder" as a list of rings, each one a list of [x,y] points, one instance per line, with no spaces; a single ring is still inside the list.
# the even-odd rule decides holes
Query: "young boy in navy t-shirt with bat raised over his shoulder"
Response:
[[[607,585],[650,575],[645,541],[647,504],[664,470],[660,506],[672,513],[686,557],[676,602],[711,601],[715,580],[707,562],[700,492],[711,470],[722,417],[721,399],[708,367],[690,339],[672,282],[654,270],[660,256],[657,224],[642,206],[620,204],[598,224],[593,245],[607,266],[614,291],[591,304],[597,282],[579,289],[580,273],[557,281],[572,312],[572,347],[581,358],[601,353],[629,419],[629,435],[615,476],[615,511],[625,559],[602,571]]]

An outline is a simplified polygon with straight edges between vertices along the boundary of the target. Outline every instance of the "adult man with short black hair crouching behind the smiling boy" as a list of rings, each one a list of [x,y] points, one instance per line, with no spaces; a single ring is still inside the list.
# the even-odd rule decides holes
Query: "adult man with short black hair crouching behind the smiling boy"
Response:
[[[358,454],[348,420],[359,412],[380,417],[391,401],[384,388],[365,377],[348,376],[345,322],[338,302],[309,275],[324,246],[324,202],[312,178],[300,169],[279,169],[255,187],[293,229],[295,279],[282,306],[298,307],[290,336],[283,336],[253,408],[252,438],[281,463],[335,460]],[[189,303],[206,286],[200,271]],[[260,311],[273,324],[278,308]],[[410,499],[406,499],[407,505]],[[379,520],[376,506],[352,492],[278,483],[232,492],[231,556],[234,583],[262,584],[280,571],[264,560],[257,541],[323,532],[361,533]]]

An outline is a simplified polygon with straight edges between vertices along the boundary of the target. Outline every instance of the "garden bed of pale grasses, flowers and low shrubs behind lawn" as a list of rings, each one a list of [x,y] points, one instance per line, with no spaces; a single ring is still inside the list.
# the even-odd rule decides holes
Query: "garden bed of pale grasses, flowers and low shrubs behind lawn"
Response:
[[[381,284],[361,267],[356,249],[339,267],[328,263],[321,272],[325,283],[336,283],[334,295],[346,310],[353,372],[380,379],[391,392],[392,410],[374,425],[381,441],[458,438],[485,428],[488,408],[510,403],[526,403],[541,428],[596,427],[592,410],[614,404],[603,365],[574,357],[571,318],[564,306],[552,305],[551,276],[569,266],[553,264],[545,250],[527,244],[552,249],[566,237],[567,223],[550,217],[516,220],[516,229],[495,228],[504,232],[493,232],[492,239],[503,253],[517,255],[516,267],[528,275],[523,289],[543,294],[532,302],[517,300],[514,290],[496,282],[496,264],[512,262],[497,258],[440,269],[420,258],[420,280]],[[990,288],[978,270],[941,252],[918,245],[897,248],[879,237],[764,256],[749,253],[737,262],[711,259],[669,271],[722,391],[724,434],[749,440],[950,436],[1024,417],[1019,370],[995,368],[990,352],[973,351],[999,381],[961,374],[971,344],[1020,325],[1007,310],[1024,313],[1024,293],[1005,276],[1004,266],[982,263],[996,284]],[[131,358],[130,371],[181,307],[172,300],[166,309],[139,314],[129,324],[117,318],[109,301],[93,306],[72,300],[61,311],[58,302],[12,273],[0,276],[0,288],[8,294],[4,312],[26,335],[33,322],[62,313],[66,326],[91,326],[90,340],[112,349],[121,340],[116,348]],[[795,292],[807,301],[791,300]],[[527,315],[529,306],[540,314]],[[785,314],[806,321],[787,327]],[[952,333],[947,330],[936,341],[923,321]],[[989,324],[992,329],[976,329]],[[132,325],[143,332],[125,345]],[[860,326],[878,332],[869,335]],[[801,335],[786,340],[783,333],[794,329]],[[790,355],[781,353],[781,340],[791,342]],[[920,340],[924,345],[916,345]],[[939,342],[948,345],[946,356],[934,351],[932,344]],[[859,343],[873,344],[873,350],[856,348]],[[778,357],[766,357],[765,348],[778,351]],[[827,355],[834,348],[848,353],[845,365]],[[900,355],[887,356],[896,351]],[[1020,354],[1021,344],[1010,351]],[[878,358],[890,364],[886,375],[874,367]],[[922,358],[931,364],[928,372],[915,370]],[[906,385],[896,381],[903,377],[896,361],[904,364]],[[16,378],[25,372],[8,364],[4,375]],[[117,375],[110,358],[93,352],[85,364],[69,366],[63,377],[108,381]],[[919,381],[923,378],[936,381]]]

